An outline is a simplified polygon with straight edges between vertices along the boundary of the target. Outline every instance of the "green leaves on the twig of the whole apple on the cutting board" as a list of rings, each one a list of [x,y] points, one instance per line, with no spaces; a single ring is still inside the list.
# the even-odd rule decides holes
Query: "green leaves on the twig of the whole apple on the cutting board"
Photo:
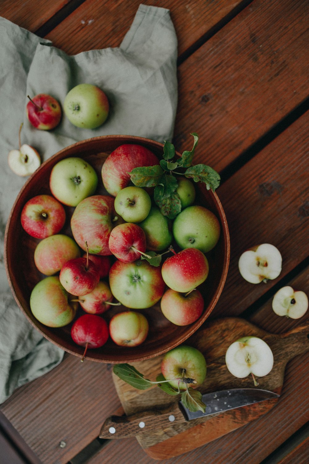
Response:
[[[135,367],[130,364],[115,364],[113,368],[114,374],[116,374],[121,380],[124,380],[126,383],[131,385],[138,390],[146,390],[147,388],[152,387],[153,385],[158,385],[161,390],[169,395],[178,395],[181,393],[179,384],[183,380],[183,383],[186,385],[186,389],[181,394],[181,400],[183,406],[185,406],[189,411],[203,411],[205,412],[206,405],[202,402],[202,393],[195,390],[192,387],[188,388],[188,383],[185,382],[187,379],[174,379],[178,380],[178,389],[173,388],[168,380],[165,380],[163,374],[157,376],[156,381],[151,381],[144,378],[144,375],[141,374]]]

